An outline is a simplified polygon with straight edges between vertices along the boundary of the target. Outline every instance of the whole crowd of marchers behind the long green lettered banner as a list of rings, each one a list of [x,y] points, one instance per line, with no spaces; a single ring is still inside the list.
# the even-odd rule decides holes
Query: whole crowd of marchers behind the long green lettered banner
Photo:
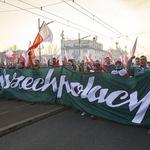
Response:
[[[35,59],[33,62],[29,53],[29,60],[29,68],[32,69],[59,66],[59,61],[56,58],[49,59],[47,63],[41,65],[38,59]],[[140,74],[150,72],[150,62],[147,61],[147,58],[144,55],[141,57],[131,57],[127,64],[123,64],[120,60],[117,60],[115,63],[113,63],[109,57],[106,57],[103,64],[100,62],[100,60],[95,60],[93,62],[85,62],[84,60],[81,60],[81,62],[79,62],[75,59],[69,59],[67,62],[64,61],[63,65],[68,69],[78,72],[105,72],[124,77],[138,76]],[[24,62],[19,62],[16,65],[10,63],[7,66],[5,66],[3,63],[0,63],[1,69],[24,69],[24,66]],[[86,112],[81,113],[82,116],[85,116],[86,114]],[[96,116],[94,115],[90,115],[90,117],[92,119],[96,119]]]

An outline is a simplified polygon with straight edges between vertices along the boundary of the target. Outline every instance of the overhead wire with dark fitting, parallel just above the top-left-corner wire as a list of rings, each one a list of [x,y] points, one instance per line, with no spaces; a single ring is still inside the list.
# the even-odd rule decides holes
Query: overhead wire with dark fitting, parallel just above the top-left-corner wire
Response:
[[[19,1],[22,2],[22,3],[24,3],[24,4],[26,4],[26,5],[29,5],[29,6],[31,6],[31,7],[34,7],[34,8],[36,8],[36,9],[39,9],[39,10],[41,10],[41,11],[43,11],[43,12],[46,12],[46,13],[48,13],[48,14],[51,14],[51,15],[53,15],[53,16],[55,16],[55,17],[58,17],[58,18],[60,18],[60,19],[62,19],[62,20],[65,20],[65,21],[67,21],[67,22],[69,22],[69,23],[72,23],[72,24],[74,24],[74,25],[76,25],[76,26],[78,26],[78,27],[81,27],[81,28],[84,28],[84,29],[86,29],[86,30],[88,30],[88,31],[91,31],[91,32],[93,32],[93,33],[95,33],[95,34],[97,34],[97,35],[103,36],[103,37],[105,37],[105,38],[109,38],[108,36],[105,36],[105,35],[103,35],[103,34],[100,34],[100,33],[96,32],[96,31],[94,31],[94,30],[88,29],[88,28],[86,28],[86,27],[84,27],[84,26],[81,26],[81,25],[79,25],[79,24],[77,24],[77,23],[74,23],[74,22],[72,22],[72,21],[68,21],[68,20],[66,20],[66,19],[63,18],[63,17],[60,17],[60,16],[58,16],[58,15],[55,15],[55,14],[53,14],[53,13],[51,13],[51,12],[48,12],[48,11],[46,11],[46,10],[43,9],[43,6],[37,7],[37,6],[31,5],[31,4],[27,3],[27,2],[24,2],[24,1],[22,1],[22,0],[19,0]],[[48,6],[48,5],[47,5],[47,6]]]

